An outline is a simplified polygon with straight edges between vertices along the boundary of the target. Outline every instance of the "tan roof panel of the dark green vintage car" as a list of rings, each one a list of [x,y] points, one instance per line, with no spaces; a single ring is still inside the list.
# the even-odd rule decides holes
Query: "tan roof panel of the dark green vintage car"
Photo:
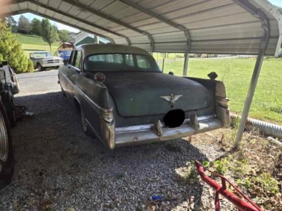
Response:
[[[86,57],[91,54],[104,54],[104,53],[129,53],[140,55],[151,55],[149,52],[142,48],[117,45],[117,44],[84,44],[77,46],[76,49],[80,49],[83,56]]]

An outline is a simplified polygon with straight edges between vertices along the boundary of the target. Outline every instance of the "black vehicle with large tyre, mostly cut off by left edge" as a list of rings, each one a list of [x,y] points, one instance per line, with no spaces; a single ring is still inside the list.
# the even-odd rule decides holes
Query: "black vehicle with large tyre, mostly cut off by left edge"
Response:
[[[15,164],[10,132],[11,119],[15,120],[14,98],[3,67],[0,63],[0,189],[11,182]]]

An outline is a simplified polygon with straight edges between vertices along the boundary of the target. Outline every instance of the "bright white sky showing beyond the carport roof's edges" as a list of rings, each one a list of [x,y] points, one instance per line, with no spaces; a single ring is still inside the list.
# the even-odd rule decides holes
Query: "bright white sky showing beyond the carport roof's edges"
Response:
[[[275,5],[275,6],[282,7],[282,0],[268,0],[268,1],[270,3],[272,3],[273,5]],[[42,17],[40,17],[38,15],[33,15],[31,13],[24,13],[22,15],[24,15],[30,21],[33,18],[38,18],[38,19],[42,20]],[[18,21],[20,16],[21,15],[14,15],[13,17],[15,18],[16,21]],[[76,28],[73,28],[73,27],[70,27],[70,26],[67,26],[67,25],[55,22],[55,21],[51,21],[51,22],[52,22],[52,24],[55,24],[58,27],[59,30],[66,29],[66,30],[72,31],[72,32],[79,32],[80,31],[79,29],[76,29]]]

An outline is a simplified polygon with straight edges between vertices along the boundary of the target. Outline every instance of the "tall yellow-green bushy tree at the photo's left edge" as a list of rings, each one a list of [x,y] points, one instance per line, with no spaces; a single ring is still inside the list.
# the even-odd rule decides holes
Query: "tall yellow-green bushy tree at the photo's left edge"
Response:
[[[12,33],[7,22],[0,22],[0,60],[8,61],[17,73],[30,72],[27,57],[24,55],[17,36]]]

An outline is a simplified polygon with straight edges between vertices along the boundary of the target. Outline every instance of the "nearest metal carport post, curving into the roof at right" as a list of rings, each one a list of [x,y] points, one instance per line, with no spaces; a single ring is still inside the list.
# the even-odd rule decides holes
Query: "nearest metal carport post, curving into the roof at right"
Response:
[[[257,9],[256,7],[254,7],[251,3],[245,0],[232,0],[232,1],[238,4],[239,6],[241,6],[242,8],[244,8],[245,10],[247,10],[248,12],[250,12],[254,17],[261,19],[262,29],[263,29],[263,37],[261,40],[260,50],[258,52],[258,57],[257,57],[257,61],[255,64],[251,84],[250,84],[249,91],[245,99],[244,109],[242,112],[240,125],[239,125],[237,136],[235,139],[234,150],[237,150],[239,148],[239,145],[240,145],[240,142],[243,136],[245,124],[248,119],[248,115],[250,112],[256,85],[259,79],[263,58],[264,58],[265,51],[269,43],[270,23],[269,23],[269,20],[266,14],[262,12],[261,10]]]

